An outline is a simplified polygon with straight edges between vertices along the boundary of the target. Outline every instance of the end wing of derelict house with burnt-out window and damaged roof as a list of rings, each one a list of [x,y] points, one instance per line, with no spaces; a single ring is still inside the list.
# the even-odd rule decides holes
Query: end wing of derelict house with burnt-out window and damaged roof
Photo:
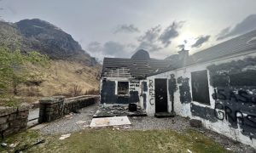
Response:
[[[166,60],[150,59],[139,50],[131,59],[104,58],[101,79],[102,104],[137,103],[146,107],[146,77],[168,67]],[[142,103],[140,103],[140,101]]]

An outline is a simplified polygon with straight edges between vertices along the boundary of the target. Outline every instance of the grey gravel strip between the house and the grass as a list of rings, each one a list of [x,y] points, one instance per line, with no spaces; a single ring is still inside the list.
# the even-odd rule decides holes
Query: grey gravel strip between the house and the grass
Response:
[[[98,104],[90,105],[80,110],[79,114],[71,114],[49,123],[48,126],[40,129],[41,133],[44,134],[63,134],[73,133],[79,130],[88,128],[90,121],[95,112],[99,109]],[[189,126],[189,119],[175,116],[173,118],[155,118],[149,116],[132,116],[129,117],[131,126],[119,127],[120,129],[128,130],[151,130],[151,129],[172,129],[177,132],[193,128]],[[224,148],[235,152],[242,153],[256,153],[252,147],[236,142],[235,140],[229,139],[218,133],[207,130],[206,128],[193,128],[203,133],[208,138],[222,144]]]

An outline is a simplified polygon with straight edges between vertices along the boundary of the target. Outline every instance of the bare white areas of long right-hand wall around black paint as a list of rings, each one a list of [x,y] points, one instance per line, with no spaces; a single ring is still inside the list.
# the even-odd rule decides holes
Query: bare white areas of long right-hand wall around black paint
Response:
[[[247,54],[236,54],[234,56],[230,56],[227,58],[222,58],[222,59],[216,59],[216,60],[212,60],[210,62],[204,62],[204,63],[199,63],[196,65],[189,65],[187,67],[181,68],[181,69],[177,69],[175,71],[167,71],[165,73],[161,73],[158,75],[154,75],[151,77],[147,78],[147,82],[148,82],[148,100],[147,100],[147,114],[148,116],[154,116],[155,113],[155,100],[154,100],[154,96],[149,94],[149,80],[152,80],[154,82],[155,78],[170,78],[171,74],[175,75],[175,78],[177,79],[177,77],[188,77],[189,78],[189,87],[190,87],[190,93],[192,96],[192,86],[191,86],[191,72],[193,71],[204,71],[207,70],[207,66],[209,65],[219,65],[222,63],[227,63],[230,62],[232,60],[239,60],[239,59],[245,59],[248,57],[256,57],[256,50],[253,50],[250,53]],[[198,102],[192,101],[191,103],[193,103],[194,105],[201,105],[203,107],[210,107],[212,109],[214,109],[215,106],[215,100],[212,99],[212,94],[214,92],[212,86],[210,85],[210,81],[209,81],[209,73],[208,73],[208,87],[209,87],[209,96],[210,96],[210,103],[211,105],[203,105],[200,104]],[[178,83],[177,83],[177,87],[178,87]],[[154,87],[154,83],[153,83],[153,87]],[[154,88],[153,88],[154,89]],[[170,101],[170,96],[169,96],[169,92],[168,93],[168,111],[171,111],[170,106],[171,101]],[[198,116],[192,116],[191,115],[191,111],[190,111],[190,104],[181,104],[180,102],[180,95],[179,95],[179,89],[177,89],[177,92],[174,94],[174,110],[177,113],[177,115],[179,116],[189,116],[190,118],[193,119],[198,119],[201,120],[201,122],[203,123],[204,127],[207,127],[208,129],[212,129],[213,131],[217,132],[217,133],[222,133],[227,137],[230,137],[231,139],[236,139],[237,141],[240,141],[241,143],[244,144],[249,144],[251,146],[253,146],[254,148],[256,148],[256,139],[249,139],[249,137],[241,134],[241,129],[240,128],[232,128],[230,127],[230,123],[227,121],[220,121],[218,120],[218,122],[209,122],[208,120],[205,120],[201,117]],[[151,99],[151,101],[150,101]],[[151,104],[150,104],[151,102]]]

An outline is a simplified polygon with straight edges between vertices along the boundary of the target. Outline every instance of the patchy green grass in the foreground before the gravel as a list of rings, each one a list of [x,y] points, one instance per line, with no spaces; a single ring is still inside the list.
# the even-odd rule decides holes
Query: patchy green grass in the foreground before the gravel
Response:
[[[38,138],[46,142],[26,152],[228,152],[220,144],[194,130],[177,133],[172,130],[87,129],[72,133],[65,140],[59,140],[60,135],[42,136],[36,132],[27,132],[12,136],[6,142],[20,142],[19,148],[24,144],[32,144]]]

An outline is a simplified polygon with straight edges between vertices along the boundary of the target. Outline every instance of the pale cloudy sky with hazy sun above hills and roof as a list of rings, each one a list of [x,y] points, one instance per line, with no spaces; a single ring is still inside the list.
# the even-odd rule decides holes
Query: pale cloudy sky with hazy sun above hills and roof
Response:
[[[2,20],[46,20],[96,59],[194,54],[256,29],[255,0],[0,0]]]

